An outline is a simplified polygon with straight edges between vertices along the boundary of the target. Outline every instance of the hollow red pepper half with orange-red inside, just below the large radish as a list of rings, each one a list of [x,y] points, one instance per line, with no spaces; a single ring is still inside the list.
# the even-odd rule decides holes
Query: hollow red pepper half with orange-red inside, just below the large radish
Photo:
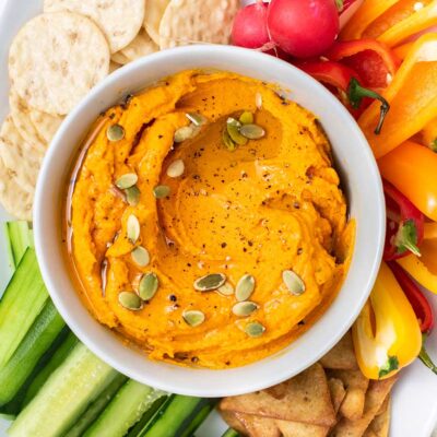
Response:
[[[401,63],[389,47],[371,38],[336,42],[324,56],[352,68],[371,88],[385,88]]]

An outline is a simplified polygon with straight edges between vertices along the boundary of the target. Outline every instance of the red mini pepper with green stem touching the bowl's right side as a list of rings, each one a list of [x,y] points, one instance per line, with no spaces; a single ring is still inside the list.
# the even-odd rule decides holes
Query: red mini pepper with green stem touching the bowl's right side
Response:
[[[387,232],[383,259],[391,261],[409,255],[420,256],[425,216],[391,184],[383,181],[387,206]]]

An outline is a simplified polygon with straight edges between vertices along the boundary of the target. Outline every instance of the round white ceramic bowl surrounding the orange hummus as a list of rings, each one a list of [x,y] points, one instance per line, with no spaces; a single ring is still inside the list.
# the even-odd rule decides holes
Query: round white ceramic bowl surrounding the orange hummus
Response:
[[[320,119],[332,143],[356,240],[346,280],[326,314],[285,350],[257,363],[225,370],[185,368],[153,362],[101,326],[82,305],[64,261],[62,202],[72,161],[98,114],[127,93],[192,68],[214,68],[280,84],[288,97]],[[40,172],[34,213],[37,257],[50,296],[71,330],[97,356],[122,374],[170,392],[222,397],[260,390],[310,366],[328,352],[358,316],[374,284],[385,236],[381,180],[370,149],[347,110],[317,81],[274,57],[231,46],[164,50],[123,67],[97,85],[66,118]]]

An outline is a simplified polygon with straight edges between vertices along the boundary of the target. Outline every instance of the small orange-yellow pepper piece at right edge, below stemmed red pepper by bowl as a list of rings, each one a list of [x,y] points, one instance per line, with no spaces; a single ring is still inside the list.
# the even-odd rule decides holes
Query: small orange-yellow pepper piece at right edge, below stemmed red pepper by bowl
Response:
[[[437,294],[437,240],[423,240],[421,253],[421,258],[409,255],[397,262],[422,286]]]

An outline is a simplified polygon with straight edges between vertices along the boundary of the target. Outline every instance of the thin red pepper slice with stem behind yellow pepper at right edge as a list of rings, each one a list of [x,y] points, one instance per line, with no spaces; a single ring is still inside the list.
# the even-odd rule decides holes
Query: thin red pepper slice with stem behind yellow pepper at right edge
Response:
[[[417,320],[421,324],[422,331],[422,349],[418,354],[421,362],[428,367],[432,371],[437,374],[437,366],[434,364],[433,359],[426,352],[425,342],[434,328],[434,314],[433,307],[429,305],[425,295],[422,293],[421,288],[416,283],[405,273],[405,271],[395,262],[388,262],[391,271],[394,274],[399,285],[403,290],[406,298],[409,299]]]

